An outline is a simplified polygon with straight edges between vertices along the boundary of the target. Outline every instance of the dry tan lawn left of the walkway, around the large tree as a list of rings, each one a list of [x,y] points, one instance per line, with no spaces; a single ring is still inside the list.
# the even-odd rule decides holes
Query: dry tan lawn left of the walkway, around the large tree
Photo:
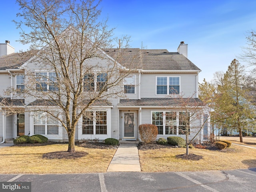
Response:
[[[116,149],[76,147],[88,153],[75,159],[47,159],[43,154],[66,151],[68,144],[46,146],[12,146],[0,150],[1,174],[61,174],[106,172]]]

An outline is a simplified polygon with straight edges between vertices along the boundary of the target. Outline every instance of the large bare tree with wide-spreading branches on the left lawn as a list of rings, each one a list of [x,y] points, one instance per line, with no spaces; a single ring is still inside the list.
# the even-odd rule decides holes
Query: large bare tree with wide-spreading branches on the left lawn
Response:
[[[30,103],[26,109],[38,118],[60,122],[68,134],[68,152],[75,152],[79,118],[95,102],[106,105],[122,96],[120,85],[138,68],[138,53],[133,52],[130,62],[120,65],[126,57],[129,37],[117,38],[117,48],[110,49],[116,46],[114,29],[108,28],[107,21],[99,21],[100,0],[17,2],[22,18],[16,21],[21,29],[19,41],[38,50],[31,52],[23,68],[26,89],[18,96],[26,98]],[[49,72],[40,72],[46,69]]]

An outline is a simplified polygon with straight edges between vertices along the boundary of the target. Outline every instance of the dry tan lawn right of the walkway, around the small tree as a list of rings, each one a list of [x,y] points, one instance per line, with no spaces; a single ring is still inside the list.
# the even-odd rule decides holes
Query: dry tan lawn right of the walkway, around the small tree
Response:
[[[225,150],[190,149],[191,154],[203,156],[200,160],[183,160],[185,148],[139,150],[140,166],[144,172],[178,172],[202,170],[233,170],[256,167],[256,150],[231,146]]]

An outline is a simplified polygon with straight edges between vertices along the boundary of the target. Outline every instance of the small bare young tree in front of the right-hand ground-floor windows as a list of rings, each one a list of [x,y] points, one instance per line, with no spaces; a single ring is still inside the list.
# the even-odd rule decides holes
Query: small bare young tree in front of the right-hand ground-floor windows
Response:
[[[173,105],[166,107],[169,111],[168,114],[165,114],[166,122],[170,122],[167,127],[178,130],[179,135],[185,135],[186,155],[188,155],[189,145],[198,139],[198,134],[201,133],[204,127],[208,127],[212,109],[210,105],[206,105],[200,99],[194,98],[193,95],[185,97],[182,94],[172,94],[170,100]],[[177,122],[178,129],[176,128]],[[206,137],[208,138],[208,133],[204,135],[204,138]]]

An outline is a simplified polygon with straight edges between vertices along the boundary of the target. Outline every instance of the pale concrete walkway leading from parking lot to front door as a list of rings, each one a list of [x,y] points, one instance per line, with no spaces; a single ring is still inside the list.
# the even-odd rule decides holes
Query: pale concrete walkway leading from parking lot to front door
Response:
[[[107,172],[140,172],[140,159],[136,144],[120,144]]]

